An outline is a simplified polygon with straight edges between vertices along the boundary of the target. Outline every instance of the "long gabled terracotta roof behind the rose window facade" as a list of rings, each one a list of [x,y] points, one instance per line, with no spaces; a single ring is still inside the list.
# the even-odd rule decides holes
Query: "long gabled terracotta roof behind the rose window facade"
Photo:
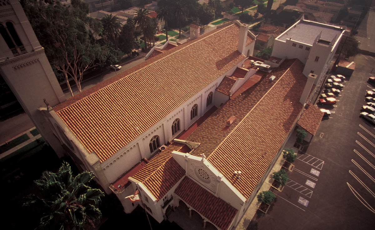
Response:
[[[298,59],[285,60],[272,73],[219,107],[187,141],[248,199],[297,121],[307,78]],[[269,77],[276,76],[269,82]],[[226,127],[225,121],[237,120]],[[233,171],[242,171],[237,180]]]

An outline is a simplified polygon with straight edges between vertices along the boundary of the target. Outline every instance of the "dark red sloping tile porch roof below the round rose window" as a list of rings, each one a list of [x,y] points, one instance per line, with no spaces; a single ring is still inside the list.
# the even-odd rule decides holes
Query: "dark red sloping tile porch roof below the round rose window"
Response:
[[[228,229],[237,209],[185,177],[174,193],[220,229]]]

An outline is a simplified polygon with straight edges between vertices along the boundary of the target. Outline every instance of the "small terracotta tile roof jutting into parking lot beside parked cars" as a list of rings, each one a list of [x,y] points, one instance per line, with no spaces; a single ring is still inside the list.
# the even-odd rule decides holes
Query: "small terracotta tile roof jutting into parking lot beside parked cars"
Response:
[[[324,113],[321,112],[320,109],[313,104],[308,103],[308,105],[309,107],[305,109],[305,111],[303,111],[297,124],[314,136],[315,133],[317,133]]]

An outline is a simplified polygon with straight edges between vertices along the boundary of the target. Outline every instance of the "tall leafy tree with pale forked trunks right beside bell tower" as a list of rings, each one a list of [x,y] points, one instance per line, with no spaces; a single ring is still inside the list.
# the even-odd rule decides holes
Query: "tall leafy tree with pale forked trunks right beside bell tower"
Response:
[[[72,0],[71,6],[60,1],[23,0],[24,11],[40,42],[49,63],[74,79],[81,92],[83,73],[105,62],[108,52],[96,42],[102,24],[89,17],[89,6],[81,0]]]

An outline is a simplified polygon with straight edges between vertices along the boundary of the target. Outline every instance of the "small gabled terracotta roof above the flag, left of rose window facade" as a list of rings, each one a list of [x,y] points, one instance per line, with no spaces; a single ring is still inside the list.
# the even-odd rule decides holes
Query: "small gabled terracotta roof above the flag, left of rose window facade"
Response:
[[[158,201],[185,175],[184,169],[172,157],[173,150],[178,151],[184,146],[183,143],[172,142],[133,176]]]

